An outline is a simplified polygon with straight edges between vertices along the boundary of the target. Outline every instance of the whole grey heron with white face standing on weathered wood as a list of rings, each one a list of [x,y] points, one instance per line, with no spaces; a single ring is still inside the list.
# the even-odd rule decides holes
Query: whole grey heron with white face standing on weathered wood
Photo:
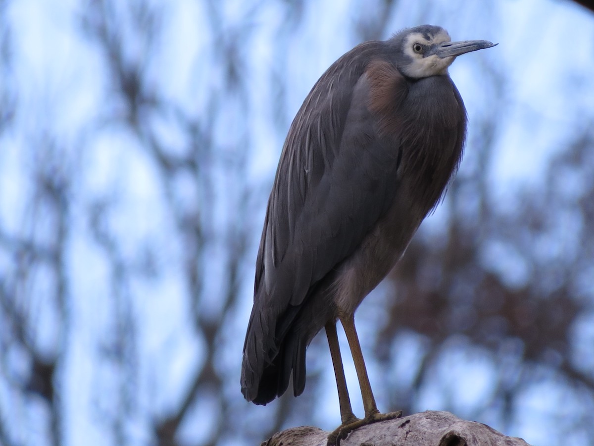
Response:
[[[255,404],[305,388],[305,351],[326,330],[342,424],[333,445],[380,413],[355,328],[361,301],[386,277],[443,197],[466,138],[448,74],[456,56],[496,44],[452,42],[422,25],[370,40],[314,84],[283,145],[258,250],[241,388]],[[365,417],[350,404],[336,324],[358,376]]]

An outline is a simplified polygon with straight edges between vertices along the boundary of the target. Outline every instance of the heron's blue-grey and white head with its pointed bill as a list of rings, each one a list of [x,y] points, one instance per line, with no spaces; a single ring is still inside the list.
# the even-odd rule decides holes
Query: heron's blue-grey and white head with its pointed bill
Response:
[[[456,56],[497,45],[488,40],[452,42],[446,30],[432,25],[403,30],[388,43],[396,50],[398,69],[410,78],[447,74],[447,68]]]

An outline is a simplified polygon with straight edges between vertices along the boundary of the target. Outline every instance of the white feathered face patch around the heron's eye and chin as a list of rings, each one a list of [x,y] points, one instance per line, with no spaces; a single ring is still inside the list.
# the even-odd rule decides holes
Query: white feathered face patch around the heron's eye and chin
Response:
[[[445,30],[441,30],[435,36],[429,36],[426,39],[422,33],[413,33],[406,37],[405,54],[412,59],[412,63],[402,68],[406,76],[412,78],[422,78],[429,76],[437,76],[439,74],[446,74],[447,68],[454,61],[455,57],[439,58],[432,54],[424,57],[422,52],[415,52],[415,44],[433,45],[435,43],[451,42],[450,34]]]

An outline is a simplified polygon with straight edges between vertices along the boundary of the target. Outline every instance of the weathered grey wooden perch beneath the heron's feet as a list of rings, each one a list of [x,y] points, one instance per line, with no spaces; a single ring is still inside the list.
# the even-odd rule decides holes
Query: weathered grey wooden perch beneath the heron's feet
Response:
[[[274,434],[261,446],[326,446],[330,432],[312,426]],[[340,441],[341,446],[527,446],[522,438],[501,434],[487,425],[466,421],[450,412],[428,410],[362,426]]]

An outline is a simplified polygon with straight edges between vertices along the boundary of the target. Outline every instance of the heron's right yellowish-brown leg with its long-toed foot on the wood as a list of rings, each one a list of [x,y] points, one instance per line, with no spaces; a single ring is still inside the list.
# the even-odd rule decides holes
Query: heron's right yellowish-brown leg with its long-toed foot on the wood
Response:
[[[363,407],[365,408],[365,418],[362,420],[355,420],[352,423],[347,423],[330,436],[328,436],[328,444],[330,439],[336,432],[335,442],[332,444],[339,445],[340,440],[346,438],[353,430],[383,420],[391,420],[402,416],[402,410],[391,413],[380,413],[377,410],[377,404],[375,404],[375,398],[371,391],[371,384],[369,384],[369,377],[367,376],[367,369],[365,368],[365,360],[363,359],[363,352],[361,351],[361,344],[359,344],[359,337],[355,329],[355,319],[353,316],[350,318],[341,318],[342,326],[345,328],[346,338],[349,341],[350,352],[353,356],[353,362],[355,363],[355,369],[357,370],[357,377],[359,378],[359,387],[361,388],[361,397],[363,398]]]

